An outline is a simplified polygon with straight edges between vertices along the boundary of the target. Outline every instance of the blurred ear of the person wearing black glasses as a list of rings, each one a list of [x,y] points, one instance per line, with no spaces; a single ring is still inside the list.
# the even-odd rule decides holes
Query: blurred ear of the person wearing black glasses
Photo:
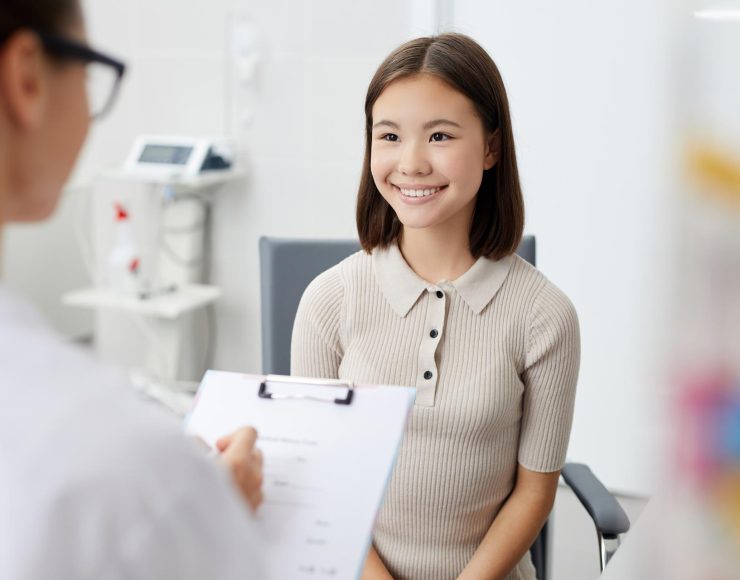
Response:
[[[41,41],[31,32],[14,34],[0,51],[0,100],[16,127],[28,129],[41,123],[45,85]]]

